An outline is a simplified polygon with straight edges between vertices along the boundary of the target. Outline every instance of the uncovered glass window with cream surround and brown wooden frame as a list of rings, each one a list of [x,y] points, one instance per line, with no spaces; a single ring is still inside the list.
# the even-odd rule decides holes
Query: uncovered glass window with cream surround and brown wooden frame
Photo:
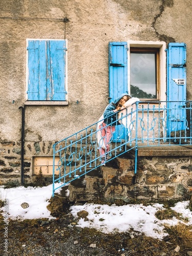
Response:
[[[127,47],[130,94],[141,100],[166,100],[165,42],[129,41]]]

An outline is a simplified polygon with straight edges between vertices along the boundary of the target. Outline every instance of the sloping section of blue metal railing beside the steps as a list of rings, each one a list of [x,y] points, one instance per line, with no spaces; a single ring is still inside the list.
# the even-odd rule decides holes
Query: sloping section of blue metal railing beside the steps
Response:
[[[135,148],[135,144],[132,145],[132,143],[136,141],[135,131],[133,132],[135,123],[135,118],[133,118],[135,115],[133,112],[136,113],[135,111],[131,111],[131,113],[120,117],[118,117],[118,113],[115,113],[119,123],[122,123],[123,118],[129,118],[129,127],[126,125],[117,125],[120,128],[112,133],[112,138],[109,143],[110,150],[108,153],[106,153],[105,150],[105,163],[109,163]],[[111,119],[111,123],[108,124],[108,126],[115,125],[113,122],[114,121]],[[84,177],[101,166],[101,156],[99,152],[100,148],[103,146],[105,136],[98,138],[98,132],[102,130],[102,124],[98,127],[98,123],[99,122],[93,123],[78,133],[56,142],[53,145],[53,196],[56,189],[76,179],[80,179],[80,177]],[[56,157],[59,157],[57,163],[55,162]],[[61,184],[57,186],[57,188],[55,188],[56,182]]]

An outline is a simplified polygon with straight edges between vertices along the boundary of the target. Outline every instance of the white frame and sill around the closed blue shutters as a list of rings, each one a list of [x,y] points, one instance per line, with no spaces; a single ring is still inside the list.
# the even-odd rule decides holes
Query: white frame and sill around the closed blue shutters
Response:
[[[66,52],[65,52],[65,91],[68,91],[68,40],[67,39],[44,39],[44,38],[27,38],[26,39],[26,101],[25,101],[25,105],[68,105],[68,94],[66,93],[66,98],[65,100],[32,100],[32,99],[28,99],[28,78],[29,78],[29,69],[28,69],[28,45],[29,45],[29,41],[33,40],[33,41],[65,41],[66,42]]]

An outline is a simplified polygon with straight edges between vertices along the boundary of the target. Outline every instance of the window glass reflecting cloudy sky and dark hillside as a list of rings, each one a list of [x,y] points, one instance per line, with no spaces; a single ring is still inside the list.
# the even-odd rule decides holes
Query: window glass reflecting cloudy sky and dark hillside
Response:
[[[131,53],[131,95],[141,99],[157,98],[156,53]]]

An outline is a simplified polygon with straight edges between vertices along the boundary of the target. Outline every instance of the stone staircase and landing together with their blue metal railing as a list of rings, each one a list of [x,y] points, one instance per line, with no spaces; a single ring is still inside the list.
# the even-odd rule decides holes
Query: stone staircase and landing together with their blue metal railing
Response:
[[[191,102],[181,102],[182,106],[178,102],[178,107],[175,105],[173,109],[161,103],[152,106],[151,102],[147,105],[136,102],[135,111],[120,117],[116,113],[120,123],[128,118],[129,122],[121,125],[118,133],[112,136],[106,166],[101,165],[99,148],[104,138],[98,140],[97,133],[102,129],[98,122],[56,142],[53,145],[53,196],[58,188],[63,196],[69,194],[70,201],[102,198],[102,201],[113,202],[160,198],[161,195],[180,197],[185,193],[180,189],[186,191],[185,184],[190,182],[181,173],[185,168],[182,162],[192,162],[189,160],[192,155]],[[177,116],[171,115],[169,120],[167,112],[177,113]],[[56,157],[59,157],[57,163]],[[173,170],[175,180],[179,181],[174,185]],[[190,178],[191,172],[187,175]],[[183,187],[182,182],[185,183]],[[60,185],[55,188],[55,183]]]

